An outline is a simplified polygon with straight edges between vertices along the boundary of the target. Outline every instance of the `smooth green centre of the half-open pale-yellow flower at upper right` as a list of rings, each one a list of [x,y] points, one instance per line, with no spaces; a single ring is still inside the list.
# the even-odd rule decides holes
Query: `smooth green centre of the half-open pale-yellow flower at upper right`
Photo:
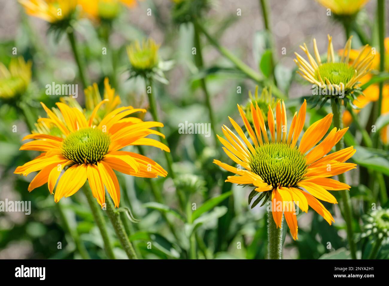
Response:
[[[355,70],[353,67],[349,67],[347,63],[323,63],[316,73],[317,78],[320,74],[323,81],[326,77],[331,84],[340,84],[341,82],[346,84],[354,76]]]

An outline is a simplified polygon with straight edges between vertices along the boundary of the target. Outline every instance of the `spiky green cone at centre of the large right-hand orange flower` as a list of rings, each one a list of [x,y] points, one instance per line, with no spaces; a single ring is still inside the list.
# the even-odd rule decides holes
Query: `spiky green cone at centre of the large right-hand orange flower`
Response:
[[[251,170],[273,188],[295,187],[303,178],[307,164],[296,147],[277,142],[256,147],[255,151],[250,158]]]

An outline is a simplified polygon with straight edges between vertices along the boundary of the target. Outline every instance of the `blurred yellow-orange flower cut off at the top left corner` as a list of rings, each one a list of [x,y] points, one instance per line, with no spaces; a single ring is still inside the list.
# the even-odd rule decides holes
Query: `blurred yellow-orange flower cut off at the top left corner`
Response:
[[[58,23],[71,18],[77,7],[77,0],[19,0],[28,15],[49,23]]]

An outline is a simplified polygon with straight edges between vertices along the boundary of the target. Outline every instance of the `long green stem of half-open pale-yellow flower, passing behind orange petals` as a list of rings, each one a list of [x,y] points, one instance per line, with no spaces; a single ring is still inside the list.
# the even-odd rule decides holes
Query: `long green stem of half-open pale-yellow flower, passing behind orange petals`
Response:
[[[333,116],[333,124],[336,128],[341,129],[342,128],[342,112],[340,111],[340,106],[338,103],[333,100],[331,102],[332,112],[334,114]],[[344,142],[343,138],[339,140],[339,142],[336,144],[335,149],[336,151],[339,151],[343,149]],[[345,183],[346,178],[344,174],[339,174],[338,179],[340,182]],[[357,259],[356,257],[356,245],[353,239],[353,230],[352,230],[352,211],[351,211],[351,199],[350,199],[350,193],[347,190],[340,191],[340,195],[342,197],[343,202],[343,218],[346,221],[346,230],[347,230],[347,239],[349,240],[350,244],[350,253],[352,259]]]

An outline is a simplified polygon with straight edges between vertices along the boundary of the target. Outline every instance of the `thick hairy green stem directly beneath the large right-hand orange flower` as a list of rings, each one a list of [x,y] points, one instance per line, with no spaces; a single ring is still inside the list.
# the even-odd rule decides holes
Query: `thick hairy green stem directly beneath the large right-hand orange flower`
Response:
[[[282,232],[284,225],[284,214],[282,214],[281,227],[277,228],[273,219],[272,211],[268,211],[268,258],[282,259]]]

